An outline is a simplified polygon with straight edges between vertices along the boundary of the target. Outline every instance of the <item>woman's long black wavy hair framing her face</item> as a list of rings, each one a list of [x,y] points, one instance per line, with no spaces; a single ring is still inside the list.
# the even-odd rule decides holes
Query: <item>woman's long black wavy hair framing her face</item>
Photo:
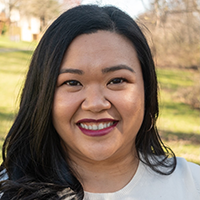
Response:
[[[20,108],[3,145],[1,199],[83,199],[84,192],[66,160],[52,124],[52,104],[65,52],[74,38],[105,30],[125,36],[137,52],[143,73],[145,114],[136,137],[139,159],[160,174],[176,166],[173,152],[157,129],[157,79],[147,41],[136,24],[118,8],[82,5],[63,13],[47,29],[37,46],[21,95]],[[167,162],[169,156],[173,157]],[[65,192],[64,192],[65,191]]]

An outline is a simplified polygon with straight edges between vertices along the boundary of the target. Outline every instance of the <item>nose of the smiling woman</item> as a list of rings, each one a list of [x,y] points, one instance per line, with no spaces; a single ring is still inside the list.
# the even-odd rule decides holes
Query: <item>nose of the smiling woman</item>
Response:
[[[92,86],[85,91],[85,99],[81,107],[86,111],[101,112],[110,109],[111,103],[105,98],[103,89],[98,86]]]

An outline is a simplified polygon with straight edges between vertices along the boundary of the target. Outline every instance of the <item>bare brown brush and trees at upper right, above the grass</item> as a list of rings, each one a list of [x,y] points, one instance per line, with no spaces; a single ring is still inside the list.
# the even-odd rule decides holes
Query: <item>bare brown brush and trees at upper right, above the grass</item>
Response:
[[[139,17],[152,34],[158,66],[200,68],[199,7],[195,0],[154,0]]]

